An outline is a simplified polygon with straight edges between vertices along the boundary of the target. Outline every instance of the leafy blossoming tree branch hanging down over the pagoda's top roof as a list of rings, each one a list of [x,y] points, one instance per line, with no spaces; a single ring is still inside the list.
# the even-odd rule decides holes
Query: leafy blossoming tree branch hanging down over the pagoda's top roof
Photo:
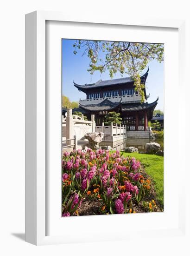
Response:
[[[154,43],[117,42],[76,40],[73,45],[74,54],[82,50],[82,56],[87,54],[90,62],[88,71],[94,74],[109,71],[111,78],[119,72],[121,76],[128,74],[134,80],[135,91],[139,91],[142,102],[145,100],[145,85],[140,81],[140,74],[149,61],[164,61],[164,45]]]

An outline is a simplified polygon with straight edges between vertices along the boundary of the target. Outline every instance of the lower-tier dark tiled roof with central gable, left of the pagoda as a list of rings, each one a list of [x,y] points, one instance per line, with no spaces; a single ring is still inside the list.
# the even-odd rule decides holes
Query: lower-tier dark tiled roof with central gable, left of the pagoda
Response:
[[[119,102],[112,102],[112,101],[109,101],[108,99],[105,99],[104,101],[102,101],[99,104],[91,104],[91,105],[82,105],[79,102],[79,107],[89,110],[89,111],[111,110],[111,109],[118,107],[121,103],[121,100]]]

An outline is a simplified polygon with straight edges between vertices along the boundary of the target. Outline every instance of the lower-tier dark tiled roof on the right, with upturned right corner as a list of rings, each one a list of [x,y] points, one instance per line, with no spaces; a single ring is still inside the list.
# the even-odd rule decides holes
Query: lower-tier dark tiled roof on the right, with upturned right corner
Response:
[[[132,103],[132,104],[123,104],[122,105],[122,112],[125,111],[141,111],[146,109],[155,108],[158,102],[158,98],[156,101],[152,103]]]

